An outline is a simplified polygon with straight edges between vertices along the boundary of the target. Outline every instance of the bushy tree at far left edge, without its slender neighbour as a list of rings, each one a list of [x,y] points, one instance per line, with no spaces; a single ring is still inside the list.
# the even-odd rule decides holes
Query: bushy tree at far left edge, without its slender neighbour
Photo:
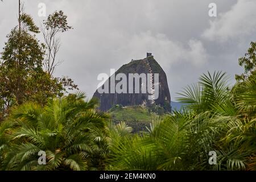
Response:
[[[22,17],[25,17],[22,16]],[[35,35],[26,29],[35,32],[30,16],[21,31],[14,28],[7,36],[7,42],[2,52],[0,64],[1,80],[1,118],[5,117],[13,105],[20,105],[26,101],[38,101],[45,104],[48,98],[61,94],[62,85],[43,71],[42,61],[44,46],[39,44]],[[32,28],[32,29],[31,29]],[[1,119],[2,120],[2,119]]]

